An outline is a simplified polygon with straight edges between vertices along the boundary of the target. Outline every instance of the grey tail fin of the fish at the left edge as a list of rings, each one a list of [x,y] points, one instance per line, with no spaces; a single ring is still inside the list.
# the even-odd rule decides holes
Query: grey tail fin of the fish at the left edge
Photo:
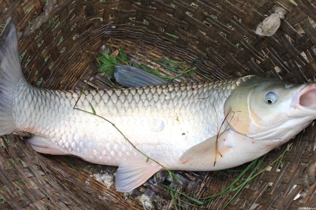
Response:
[[[12,116],[13,96],[18,82],[24,79],[15,24],[12,18],[0,35],[0,135],[15,131],[15,122]]]

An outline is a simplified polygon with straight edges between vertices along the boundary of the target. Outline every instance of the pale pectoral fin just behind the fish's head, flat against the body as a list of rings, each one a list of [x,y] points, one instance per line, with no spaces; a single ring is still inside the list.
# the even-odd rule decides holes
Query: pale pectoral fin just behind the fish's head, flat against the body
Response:
[[[179,162],[185,165],[207,165],[210,162],[224,157],[225,154],[234,146],[234,132],[230,129],[219,134],[217,139],[216,151],[216,136],[204,140],[203,142],[191,147],[180,157]],[[217,154],[216,154],[217,153]]]

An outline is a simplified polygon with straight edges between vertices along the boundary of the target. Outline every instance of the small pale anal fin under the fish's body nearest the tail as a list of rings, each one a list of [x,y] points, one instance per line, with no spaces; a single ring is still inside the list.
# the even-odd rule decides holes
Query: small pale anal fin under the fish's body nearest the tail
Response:
[[[45,139],[39,136],[33,136],[27,139],[27,142],[32,146],[33,150],[40,153],[51,155],[67,155],[60,150],[59,146],[52,143],[50,139]]]

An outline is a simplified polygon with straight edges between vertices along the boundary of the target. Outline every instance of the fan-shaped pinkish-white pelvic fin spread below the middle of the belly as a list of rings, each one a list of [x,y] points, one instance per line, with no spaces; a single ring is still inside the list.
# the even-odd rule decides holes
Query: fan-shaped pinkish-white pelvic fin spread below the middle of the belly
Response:
[[[116,171],[115,187],[119,192],[134,190],[161,169],[157,164],[126,163]]]

